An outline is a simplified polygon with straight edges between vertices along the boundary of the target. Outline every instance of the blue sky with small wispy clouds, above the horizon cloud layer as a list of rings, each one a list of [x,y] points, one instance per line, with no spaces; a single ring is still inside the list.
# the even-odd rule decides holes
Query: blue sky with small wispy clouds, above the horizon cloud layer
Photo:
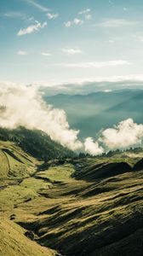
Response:
[[[141,0],[1,0],[0,80],[137,78],[143,67],[142,13]]]

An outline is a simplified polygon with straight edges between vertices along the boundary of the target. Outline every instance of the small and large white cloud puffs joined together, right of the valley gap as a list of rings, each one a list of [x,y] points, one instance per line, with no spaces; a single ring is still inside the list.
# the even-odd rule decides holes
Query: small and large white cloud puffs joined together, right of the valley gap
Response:
[[[84,143],[84,149],[89,154],[102,154],[109,150],[127,149],[143,145],[143,125],[134,123],[133,119],[121,121],[113,128],[100,131],[96,141],[88,137]]]

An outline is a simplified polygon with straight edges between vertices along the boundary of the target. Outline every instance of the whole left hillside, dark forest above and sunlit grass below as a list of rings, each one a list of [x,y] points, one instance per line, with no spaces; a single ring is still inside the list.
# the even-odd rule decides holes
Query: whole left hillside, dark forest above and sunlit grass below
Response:
[[[40,160],[73,156],[74,153],[55,143],[43,131],[19,127],[0,127],[0,179],[26,177],[36,171]]]

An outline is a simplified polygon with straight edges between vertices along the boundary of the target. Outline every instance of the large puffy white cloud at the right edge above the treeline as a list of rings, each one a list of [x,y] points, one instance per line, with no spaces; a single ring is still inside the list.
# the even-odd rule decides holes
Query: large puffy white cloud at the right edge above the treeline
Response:
[[[126,119],[114,128],[102,131],[99,141],[108,149],[129,148],[140,145],[143,139],[143,125]]]

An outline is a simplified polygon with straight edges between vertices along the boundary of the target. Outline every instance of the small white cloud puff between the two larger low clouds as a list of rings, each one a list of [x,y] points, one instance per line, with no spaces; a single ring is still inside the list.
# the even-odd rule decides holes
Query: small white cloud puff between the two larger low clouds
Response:
[[[92,137],[87,137],[84,142],[84,150],[89,154],[102,154],[104,153],[104,149],[100,147],[98,142],[94,142]]]

